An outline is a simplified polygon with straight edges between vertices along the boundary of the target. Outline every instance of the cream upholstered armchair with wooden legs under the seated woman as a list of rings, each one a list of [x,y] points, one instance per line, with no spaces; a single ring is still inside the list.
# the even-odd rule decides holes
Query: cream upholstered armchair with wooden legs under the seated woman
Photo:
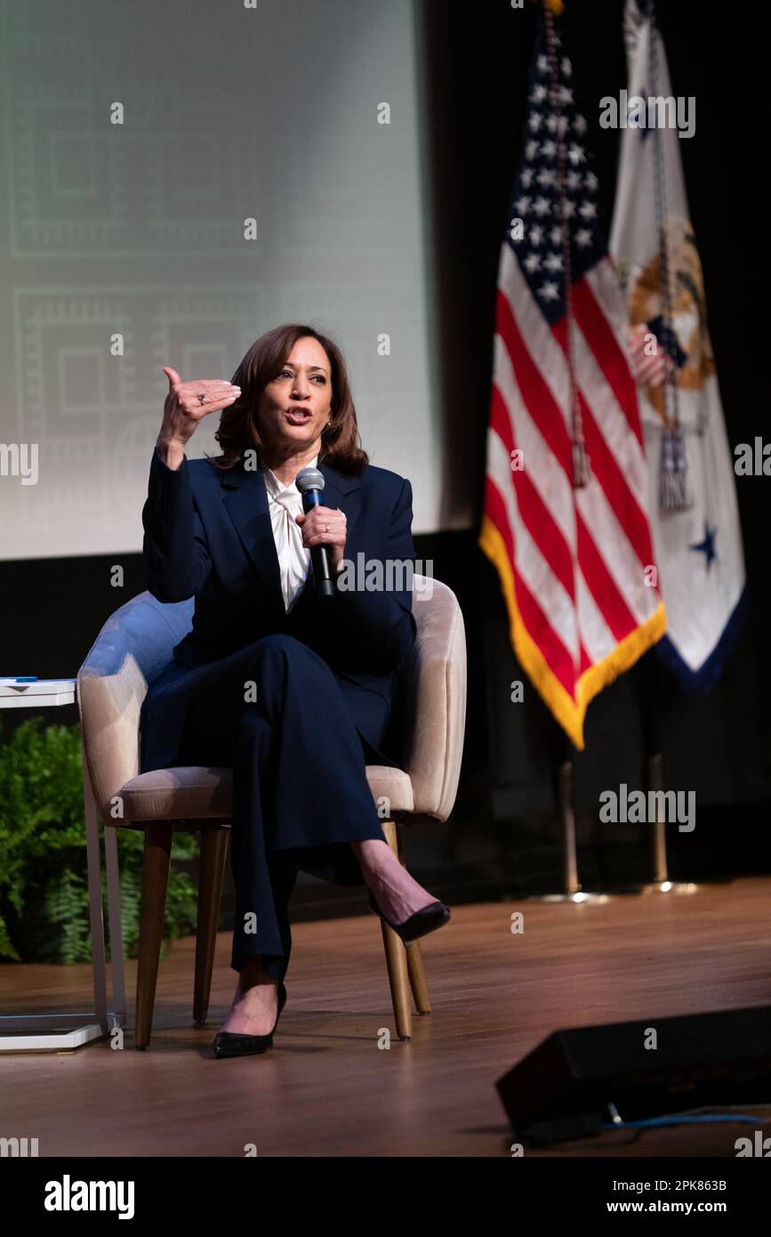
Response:
[[[415,575],[414,648],[403,674],[404,726],[400,768],[367,766],[376,803],[389,804],[388,845],[404,862],[399,825],[446,820],[457,792],[466,720],[466,641],[455,594],[439,580]],[[193,1017],[205,1023],[217,931],[231,771],[180,767],[138,771],[140,709],[148,685],[190,630],[193,599],[164,605],[142,593],[107,620],[78,673],[85,776],[105,826],[145,830],[135,1044],[146,1048],[163,938],[174,829],[200,830],[200,881]],[[429,1013],[420,943],[405,946],[383,920],[397,1032],[411,1035],[410,987],[419,1013]]]

